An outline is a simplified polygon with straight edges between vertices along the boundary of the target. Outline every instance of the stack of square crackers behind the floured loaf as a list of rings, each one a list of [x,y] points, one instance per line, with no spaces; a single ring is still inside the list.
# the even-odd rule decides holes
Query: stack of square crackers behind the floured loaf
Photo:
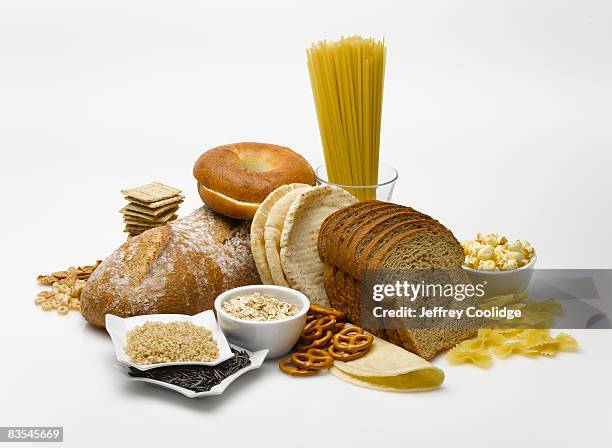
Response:
[[[125,222],[124,232],[130,236],[140,235],[145,230],[163,226],[175,220],[179,205],[183,202],[181,190],[160,182],[151,182],[142,187],[121,190],[128,205],[119,210]]]

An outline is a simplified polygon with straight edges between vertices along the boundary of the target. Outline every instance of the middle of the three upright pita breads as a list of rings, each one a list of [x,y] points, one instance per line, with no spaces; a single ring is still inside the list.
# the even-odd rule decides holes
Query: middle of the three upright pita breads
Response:
[[[288,192],[274,204],[268,214],[264,227],[264,245],[266,248],[266,260],[274,285],[289,287],[289,283],[285,279],[285,273],[283,272],[280,259],[280,238],[285,225],[287,212],[291,204],[293,204],[300,194],[313,188],[314,187],[306,186]]]

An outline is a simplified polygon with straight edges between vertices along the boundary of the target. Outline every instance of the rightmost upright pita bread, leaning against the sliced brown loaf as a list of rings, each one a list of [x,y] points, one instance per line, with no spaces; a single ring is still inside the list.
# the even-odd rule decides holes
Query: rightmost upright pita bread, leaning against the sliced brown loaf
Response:
[[[321,224],[355,202],[355,196],[342,188],[320,185],[300,194],[287,212],[280,239],[281,265],[289,286],[304,293],[311,303],[330,306],[317,251]]]

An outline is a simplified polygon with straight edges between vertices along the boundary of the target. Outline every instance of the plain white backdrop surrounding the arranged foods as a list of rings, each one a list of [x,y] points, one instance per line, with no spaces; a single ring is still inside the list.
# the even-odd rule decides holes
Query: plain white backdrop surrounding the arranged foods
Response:
[[[460,239],[505,232],[540,267],[609,268],[612,6],[605,1],[0,0],[0,425],[70,446],[603,446],[610,331],[579,354],[448,366],[441,390],[375,392],[274,363],[221,397],[126,382],[109,338],[33,304],[37,273],[125,238],[121,188],[200,203],[207,148],[254,140],[322,160],[305,49],[384,37],[382,161],[394,199]],[[227,446],[227,445],[223,445]]]

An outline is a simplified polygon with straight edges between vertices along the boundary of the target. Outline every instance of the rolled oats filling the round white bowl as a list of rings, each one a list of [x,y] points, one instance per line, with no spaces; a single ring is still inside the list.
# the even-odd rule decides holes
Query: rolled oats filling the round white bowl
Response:
[[[298,312],[297,306],[259,292],[226,300],[221,307],[238,319],[257,321],[286,319]]]

